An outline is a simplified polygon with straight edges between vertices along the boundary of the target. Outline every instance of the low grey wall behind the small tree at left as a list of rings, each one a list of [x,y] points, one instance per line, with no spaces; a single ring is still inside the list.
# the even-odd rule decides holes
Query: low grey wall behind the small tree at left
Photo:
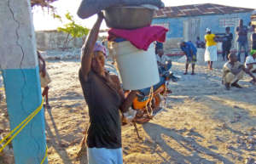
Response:
[[[39,50],[51,50],[63,48],[67,34],[59,31],[36,31],[37,47]],[[70,38],[70,37],[69,37]],[[74,38],[67,48],[81,48],[83,39]]]

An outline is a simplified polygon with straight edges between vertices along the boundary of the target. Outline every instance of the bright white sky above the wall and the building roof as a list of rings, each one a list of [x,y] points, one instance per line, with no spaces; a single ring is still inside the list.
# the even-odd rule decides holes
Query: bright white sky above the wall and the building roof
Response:
[[[69,12],[73,15],[74,20],[79,23],[79,25],[83,25],[87,28],[91,28],[96,21],[96,16],[92,16],[89,19],[82,20],[77,16],[77,10],[82,0],[59,0],[53,5],[55,6],[55,11],[57,14],[64,17],[64,15]],[[217,3],[234,7],[241,8],[256,8],[255,0],[162,0],[166,6],[179,6],[186,4],[199,4],[199,3]],[[57,27],[62,26],[67,23],[67,20],[54,19],[50,11],[47,8],[35,7],[32,9],[33,21],[36,31],[43,30],[54,30]],[[102,23],[101,29],[107,29],[107,25],[105,22]]]

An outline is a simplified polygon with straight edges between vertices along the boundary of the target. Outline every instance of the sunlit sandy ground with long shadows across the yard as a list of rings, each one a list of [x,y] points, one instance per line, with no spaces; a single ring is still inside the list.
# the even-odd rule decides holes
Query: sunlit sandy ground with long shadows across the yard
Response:
[[[223,65],[223,64],[219,64]],[[77,61],[49,61],[52,82],[50,110],[45,110],[49,164],[84,164],[76,158],[88,125],[88,108],[80,88]],[[123,127],[124,161],[127,164],[240,164],[256,159],[256,86],[246,76],[242,89],[224,90],[221,70],[196,67],[196,75],[183,76],[184,65],[173,62],[181,76],[171,83],[165,110],[151,122]],[[8,129],[1,103],[0,127]]]

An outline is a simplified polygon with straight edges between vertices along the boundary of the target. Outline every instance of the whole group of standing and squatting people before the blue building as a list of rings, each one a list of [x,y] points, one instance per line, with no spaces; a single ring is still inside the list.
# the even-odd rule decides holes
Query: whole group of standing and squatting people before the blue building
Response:
[[[205,42],[200,41],[200,38],[197,37],[196,48],[205,48],[205,61],[208,62],[209,70],[212,70],[212,64],[214,61],[217,61],[217,42],[222,42],[222,51],[223,51],[223,60],[228,60],[223,67],[223,80],[225,88],[230,90],[231,87],[241,88],[237,83],[242,79],[244,73],[247,73],[249,76],[252,76],[253,84],[256,83],[255,76],[253,73],[256,73],[256,31],[255,25],[251,25],[248,28],[246,25],[243,25],[243,20],[239,20],[239,26],[236,27],[237,34],[237,55],[230,52],[232,47],[233,34],[230,32],[230,27],[225,28],[225,33],[222,37],[212,34],[211,29],[207,28],[207,34],[205,35]],[[251,46],[251,55],[248,53],[248,32],[251,32],[250,39],[252,40]],[[183,53],[186,55],[186,69],[184,75],[188,73],[189,64],[192,64],[192,75],[195,74],[195,62],[196,62],[196,48],[192,42],[181,42],[180,48]],[[241,49],[243,48],[245,53],[244,64],[241,63]]]

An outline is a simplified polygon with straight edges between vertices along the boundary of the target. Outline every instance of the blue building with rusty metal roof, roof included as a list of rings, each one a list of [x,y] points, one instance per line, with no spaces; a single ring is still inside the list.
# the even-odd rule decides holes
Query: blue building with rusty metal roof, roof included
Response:
[[[212,3],[166,7],[154,14],[153,25],[162,25],[169,29],[165,46],[168,51],[178,48],[177,42],[182,40],[195,42],[196,37],[204,40],[207,27],[212,29],[212,33],[224,33],[225,27],[230,26],[235,35],[238,20],[242,19],[244,25],[248,25],[253,10]],[[235,42],[236,36],[234,38]]]

